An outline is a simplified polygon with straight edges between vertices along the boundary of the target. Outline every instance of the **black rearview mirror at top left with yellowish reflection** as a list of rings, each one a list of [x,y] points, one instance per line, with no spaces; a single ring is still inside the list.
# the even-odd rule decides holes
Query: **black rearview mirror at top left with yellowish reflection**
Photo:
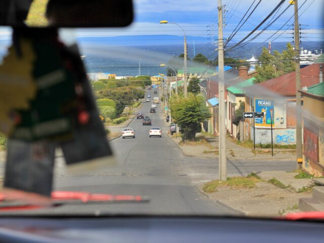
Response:
[[[125,27],[132,0],[1,0],[0,25],[12,27]]]

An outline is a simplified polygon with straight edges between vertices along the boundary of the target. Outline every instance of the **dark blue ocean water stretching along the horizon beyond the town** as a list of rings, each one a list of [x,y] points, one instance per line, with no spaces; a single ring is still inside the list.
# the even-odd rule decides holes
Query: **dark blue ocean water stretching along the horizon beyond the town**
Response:
[[[80,47],[80,53],[87,55],[84,59],[84,64],[87,72],[109,72],[115,73],[117,76],[136,76],[136,75],[157,75],[159,73],[166,74],[167,68],[160,67],[160,63],[167,63],[172,57],[177,57],[183,53],[183,45],[123,45],[118,46],[107,42],[105,38],[78,38],[77,42]],[[4,55],[6,55],[9,41],[0,42],[0,63]],[[281,52],[286,48],[287,43],[272,43],[272,50]],[[91,47],[100,46],[100,51],[93,52]],[[90,47],[90,48],[89,48]],[[234,51],[226,52],[228,57],[236,57],[239,59],[250,59],[253,55],[258,57],[261,54],[262,47],[267,48],[267,44],[259,45],[252,43],[244,48],[239,48]],[[322,49],[324,51],[323,42],[304,42],[301,47],[308,50]],[[123,48],[124,53],[118,54],[118,48]],[[129,52],[128,49],[129,48]],[[212,44],[196,44],[188,42],[188,56],[193,58],[194,54],[201,53],[208,57],[209,60],[214,60],[217,57],[216,45]],[[111,50],[116,50],[114,55],[109,55]],[[125,55],[125,50],[127,55]],[[225,50],[226,51],[226,50]],[[141,53],[149,53],[150,58],[146,58]],[[123,54],[123,55],[122,55]],[[161,58],[163,56],[163,58]],[[189,65],[190,66],[190,63]]]

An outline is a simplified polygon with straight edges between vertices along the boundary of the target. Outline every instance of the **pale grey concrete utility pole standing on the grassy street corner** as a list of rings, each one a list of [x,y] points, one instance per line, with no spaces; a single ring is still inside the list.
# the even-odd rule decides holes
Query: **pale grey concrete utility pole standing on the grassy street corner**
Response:
[[[224,44],[223,44],[223,6],[218,0],[218,130],[219,130],[219,180],[227,180],[226,171],[226,134],[225,134],[225,88],[224,88]]]

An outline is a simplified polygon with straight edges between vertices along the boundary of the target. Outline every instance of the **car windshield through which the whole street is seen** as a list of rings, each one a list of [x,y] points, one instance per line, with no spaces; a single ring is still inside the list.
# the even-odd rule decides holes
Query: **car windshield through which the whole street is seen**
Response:
[[[48,0],[31,2],[42,25]],[[134,196],[10,212],[324,209],[323,1],[133,2],[128,27],[60,28],[46,44],[0,27],[0,190]]]

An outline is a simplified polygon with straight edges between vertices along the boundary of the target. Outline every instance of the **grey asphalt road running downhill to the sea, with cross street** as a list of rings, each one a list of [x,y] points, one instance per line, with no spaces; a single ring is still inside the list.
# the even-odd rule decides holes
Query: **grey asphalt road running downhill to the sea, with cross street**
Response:
[[[153,90],[148,91],[153,100]],[[64,172],[62,158],[57,159],[55,190],[89,191],[92,193],[131,194],[150,198],[149,203],[67,205],[37,210],[33,214],[231,214],[199,192],[196,185],[218,178],[218,161],[209,158],[185,157],[167,136],[161,104],[157,113],[149,113],[151,102],[143,103],[141,112],[152,119],[152,126],[163,130],[162,138],[149,138],[150,126],[134,119],[129,127],[136,138],[117,138],[110,142],[116,165],[83,175]],[[228,161],[228,175],[247,175],[265,170],[293,170],[293,161]],[[30,214],[25,212],[26,214]]]

